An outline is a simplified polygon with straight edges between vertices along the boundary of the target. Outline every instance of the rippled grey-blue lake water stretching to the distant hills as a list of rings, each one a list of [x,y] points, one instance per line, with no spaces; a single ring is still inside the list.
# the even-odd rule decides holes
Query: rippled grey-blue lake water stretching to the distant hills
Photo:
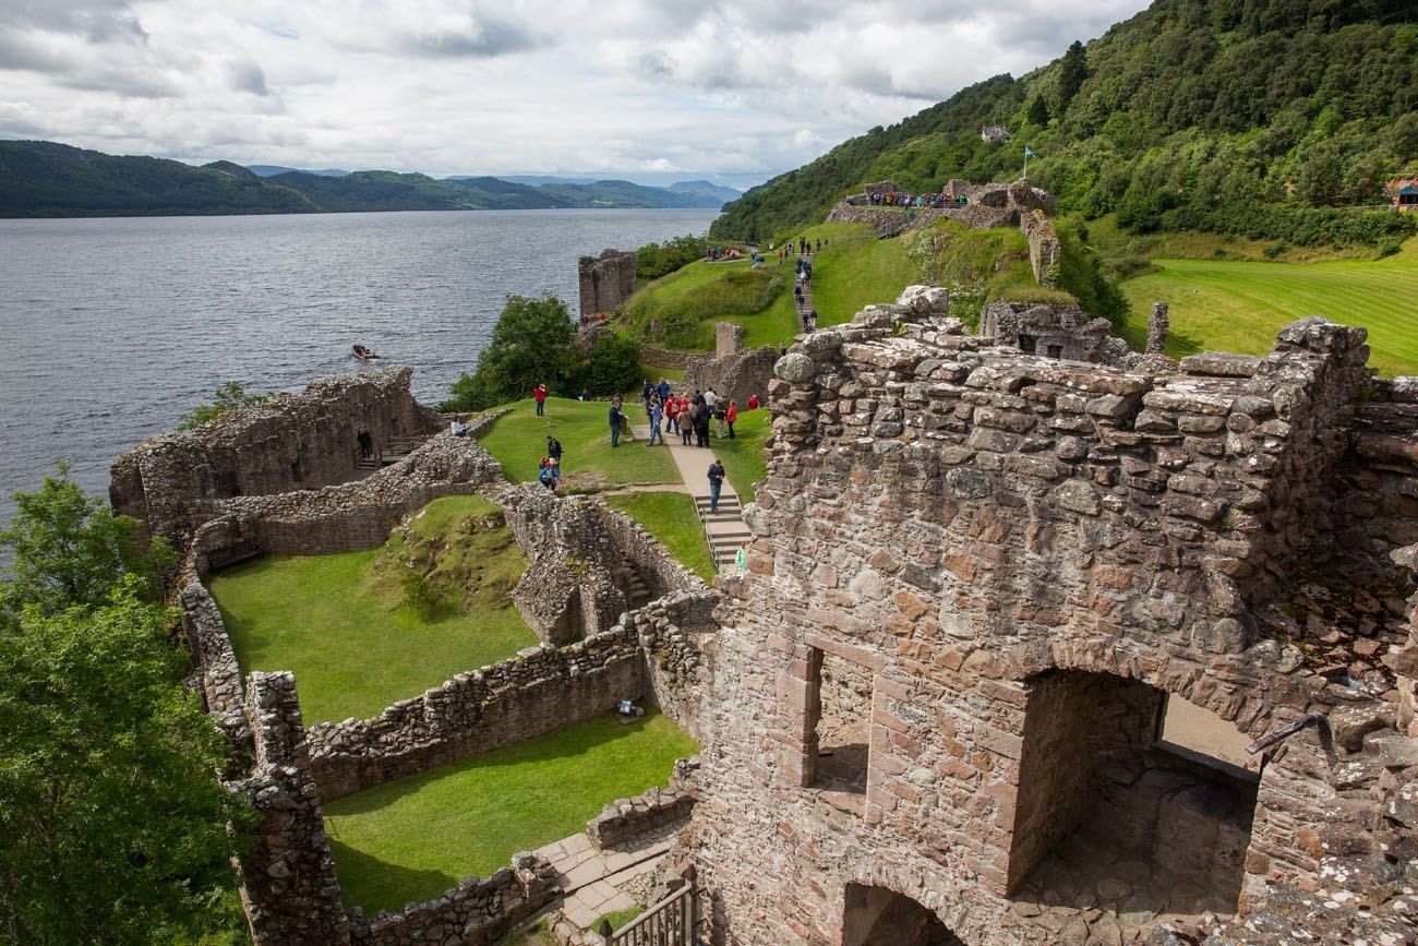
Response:
[[[703,233],[715,210],[0,220],[0,523],[55,461],[108,467],[225,380],[299,390],[411,365],[437,403],[509,292],[576,312],[576,260]]]

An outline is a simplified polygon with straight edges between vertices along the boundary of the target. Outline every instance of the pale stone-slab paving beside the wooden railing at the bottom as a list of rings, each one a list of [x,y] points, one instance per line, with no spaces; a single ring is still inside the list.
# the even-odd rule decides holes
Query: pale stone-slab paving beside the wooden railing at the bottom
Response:
[[[638,906],[637,886],[647,884],[674,840],[679,825],[647,834],[634,847],[598,850],[586,833],[573,834],[554,844],[537,848],[535,854],[556,867],[556,884],[564,892],[562,912],[581,929],[590,929],[597,918]]]

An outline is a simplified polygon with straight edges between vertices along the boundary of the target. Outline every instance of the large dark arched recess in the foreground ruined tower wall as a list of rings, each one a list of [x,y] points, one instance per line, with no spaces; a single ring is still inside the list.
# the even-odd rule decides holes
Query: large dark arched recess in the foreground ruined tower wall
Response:
[[[1011,898],[1100,909],[1123,939],[1164,915],[1235,913],[1258,774],[1164,740],[1180,696],[1079,671],[1027,684]]]

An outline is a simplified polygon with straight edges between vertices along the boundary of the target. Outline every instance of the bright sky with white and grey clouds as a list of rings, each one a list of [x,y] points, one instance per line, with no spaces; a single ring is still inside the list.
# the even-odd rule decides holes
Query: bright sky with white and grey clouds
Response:
[[[0,0],[0,138],[733,186],[1144,0]]]

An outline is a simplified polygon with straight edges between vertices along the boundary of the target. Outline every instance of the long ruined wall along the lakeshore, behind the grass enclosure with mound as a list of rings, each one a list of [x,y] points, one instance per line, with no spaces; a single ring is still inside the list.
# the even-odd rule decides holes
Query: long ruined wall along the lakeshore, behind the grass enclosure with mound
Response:
[[[109,498],[184,547],[194,501],[345,482],[357,471],[360,433],[377,454],[391,437],[434,430],[437,416],[414,400],[411,376],[404,367],[320,379],[301,394],[155,437],[113,461]]]

